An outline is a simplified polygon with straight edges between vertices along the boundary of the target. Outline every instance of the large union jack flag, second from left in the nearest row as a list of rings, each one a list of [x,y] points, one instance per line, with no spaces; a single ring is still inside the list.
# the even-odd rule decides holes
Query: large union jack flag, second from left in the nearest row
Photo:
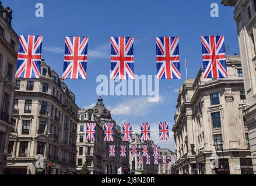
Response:
[[[86,79],[87,37],[66,37],[62,78]]]

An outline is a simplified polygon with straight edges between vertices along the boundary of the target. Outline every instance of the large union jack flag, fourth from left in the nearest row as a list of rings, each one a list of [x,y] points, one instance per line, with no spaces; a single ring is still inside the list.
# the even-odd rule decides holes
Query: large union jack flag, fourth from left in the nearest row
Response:
[[[156,38],[156,68],[159,79],[180,79],[178,37]]]

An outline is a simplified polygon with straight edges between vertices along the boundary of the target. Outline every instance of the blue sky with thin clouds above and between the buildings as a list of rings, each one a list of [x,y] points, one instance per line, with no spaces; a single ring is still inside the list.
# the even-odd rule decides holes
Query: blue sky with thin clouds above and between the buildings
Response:
[[[118,124],[129,121],[139,132],[139,123],[151,123],[152,137],[164,148],[174,149],[170,141],[157,140],[157,123],[174,124],[177,89],[185,77],[184,59],[188,62],[188,78],[194,78],[202,65],[201,35],[225,35],[229,54],[239,53],[233,8],[220,1],[195,0],[42,0],[44,17],[35,16],[34,0],[2,0],[13,10],[12,26],[17,34],[44,35],[42,55],[61,76],[65,36],[89,37],[87,80],[65,80],[76,95],[76,103],[87,107],[96,102],[96,77],[109,76],[110,37],[134,37],[135,74],[156,74],[155,37],[180,37],[181,80],[160,81],[159,102],[150,103],[146,96],[103,96],[107,108]],[[211,3],[219,3],[219,17],[211,17]]]

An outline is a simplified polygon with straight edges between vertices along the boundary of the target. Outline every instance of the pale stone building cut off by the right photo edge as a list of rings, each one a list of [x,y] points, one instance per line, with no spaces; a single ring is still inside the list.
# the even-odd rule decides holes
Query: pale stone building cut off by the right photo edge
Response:
[[[241,62],[244,71],[244,87],[247,109],[244,110],[245,124],[248,126],[251,156],[254,174],[256,174],[256,1],[255,0],[222,0],[226,6],[234,6],[234,20],[237,33]]]

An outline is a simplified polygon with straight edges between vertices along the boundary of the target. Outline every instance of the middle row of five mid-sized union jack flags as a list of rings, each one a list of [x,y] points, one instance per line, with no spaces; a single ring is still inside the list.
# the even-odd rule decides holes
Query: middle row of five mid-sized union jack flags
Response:
[[[96,123],[86,124],[86,140],[95,141]],[[159,122],[160,140],[170,140],[168,122]],[[141,123],[141,140],[150,141],[150,124]],[[104,123],[104,141],[114,141],[114,123]],[[132,124],[122,124],[122,141],[132,141]]]

